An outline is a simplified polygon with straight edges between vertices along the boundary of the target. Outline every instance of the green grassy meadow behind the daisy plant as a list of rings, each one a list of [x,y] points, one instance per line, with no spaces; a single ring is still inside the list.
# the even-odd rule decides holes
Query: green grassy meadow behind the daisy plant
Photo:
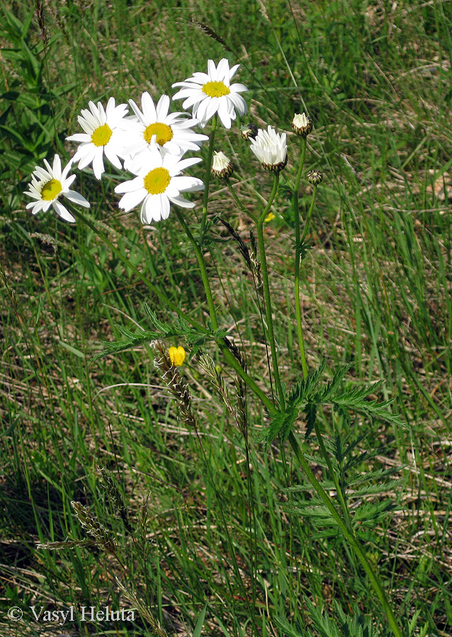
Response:
[[[7,7],[22,24],[35,11],[31,3]],[[256,443],[266,420],[259,405],[249,401],[252,471],[247,471],[244,441],[194,362],[184,374],[203,452],[193,431],[177,420],[149,352],[141,348],[89,365],[103,340],[120,338],[115,325],[147,326],[145,302],[162,318],[169,313],[86,226],[64,224],[50,213],[31,218],[25,210],[21,192],[30,171],[55,151],[69,156],[73,147],[64,137],[77,129],[77,114],[89,99],[105,103],[113,95],[117,101],[139,101],[145,90],[154,97],[172,93],[174,81],[205,69],[209,57],[228,57],[231,64],[242,64],[237,81],[250,89],[246,121],[290,130],[293,113],[304,108],[315,121],[306,166],[320,168],[324,182],[314,212],[313,248],[303,262],[308,365],[314,369],[323,357],[329,370],[353,362],[349,380],[385,379],[378,398],[394,398],[394,411],[408,425],[395,430],[354,418],[348,432],[325,413],[322,429],[341,440],[347,433],[365,434],[359,449],[373,457],[355,471],[397,469],[402,483],[388,493],[395,509],[363,529],[368,557],[404,621],[419,612],[417,631],[426,624],[428,635],[451,634],[451,14],[446,2],[250,1],[246,11],[230,1],[49,2],[23,34],[38,59],[43,35],[50,38],[43,74],[35,74],[34,85],[24,71],[20,30],[14,42],[4,28],[0,572],[5,612],[32,604],[130,607],[120,597],[118,575],[170,634],[193,633],[205,602],[205,633],[250,633],[251,605],[259,633],[282,634],[275,617],[300,626],[308,621],[303,595],[329,612],[334,601],[346,611],[358,604],[375,624],[385,621],[341,540],[316,539],[313,522],[287,510],[283,488],[303,478],[285,449],[277,445],[265,453]],[[16,57],[11,48],[19,50]],[[276,338],[283,379],[291,384],[301,367],[288,196],[298,144],[291,133],[288,142],[276,219],[266,236]],[[268,194],[271,180],[250,156],[237,126],[221,130],[215,145],[234,158],[232,182],[254,210],[256,191]],[[202,164],[192,173],[202,178]],[[174,216],[142,229],[136,211],[118,212],[117,180],[98,183],[86,171],[76,185],[91,201],[92,217],[130,261],[205,321],[198,267],[181,249]],[[212,193],[210,210],[246,238],[249,219],[237,212],[220,183],[213,183]],[[309,201],[303,185],[304,209]],[[249,372],[269,391],[251,282],[236,246],[220,229],[215,234],[225,240],[208,258],[222,326],[242,345]],[[209,353],[222,364],[218,352]],[[298,426],[303,430],[302,419]],[[307,451],[315,454],[315,444]],[[96,474],[98,465],[120,485],[133,540]],[[315,461],[312,466],[322,476],[322,466]],[[300,497],[309,499],[310,493]],[[98,549],[35,548],[38,541],[86,537],[71,500],[89,504],[111,529],[124,570]],[[20,626],[3,615],[2,634],[61,632],[30,621],[29,615]],[[70,635],[154,634],[141,619],[64,629]]]

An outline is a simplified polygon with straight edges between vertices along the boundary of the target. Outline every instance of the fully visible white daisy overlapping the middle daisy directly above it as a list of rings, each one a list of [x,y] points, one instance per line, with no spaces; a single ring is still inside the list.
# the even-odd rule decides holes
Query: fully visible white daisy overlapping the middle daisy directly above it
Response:
[[[180,156],[162,155],[157,144],[140,153],[141,166],[132,171],[135,179],[120,183],[115,193],[125,193],[119,207],[125,212],[142,203],[140,219],[142,224],[167,219],[170,203],[183,208],[193,208],[194,203],[184,199],[181,193],[203,190],[204,183],[195,177],[180,176],[181,172],[201,161],[200,157],[181,159]]]

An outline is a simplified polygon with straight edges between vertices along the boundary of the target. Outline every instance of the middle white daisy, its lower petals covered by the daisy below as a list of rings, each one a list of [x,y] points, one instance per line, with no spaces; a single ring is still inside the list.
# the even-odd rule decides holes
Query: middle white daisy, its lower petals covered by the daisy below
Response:
[[[153,136],[163,151],[174,155],[183,155],[189,150],[198,151],[200,144],[209,139],[207,135],[191,130],[198,120],[187,120],[188,113],[169,113],[170,100],[167,95],[162,95],[156,107],[149,93],[143,93],[142,111],[133,100],[129,100],[129,103],[137,116],[125,149],[130,156],[149,148]]]

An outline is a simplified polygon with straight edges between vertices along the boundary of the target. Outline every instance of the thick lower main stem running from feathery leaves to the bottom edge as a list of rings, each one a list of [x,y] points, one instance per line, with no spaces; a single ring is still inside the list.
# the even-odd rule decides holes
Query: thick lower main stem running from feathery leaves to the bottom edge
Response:
[[[315,475],[312,473],[309,464],[307,464],[307,461],[305,460],[305,457],[303,456],[303,453],[301,452],[300,447],[298,446],[298,442],[293,432],[290,432],[288,440],[290,442],[290,445],[292,446],[295,457],[297,458],[301,468],[306,474],[307,479],[310,481],[312,486],[317,491],[317,495],[319,495],[320,499],[323,501],[324,505],[327,507],[327,509],[331,513],[332,517],[334,517],[334,520],[336,521],[339,529],[341,529],[341,532],[344,535],[345,539],[349,542],[349,544],[354,549],[356,556],[358,557],[358,560],[361,562],[363,569],[366,571],[369,580],[371,580],[373,589],[375,590],[378,596],[378,599],[380,599],[383,609],[385,609],[385,613],[386,613],[386,616],[388,617],[388,621],[392,629],[392,632],[395,634],[396,637],[403,637],[402,631],[400,631],[399,626],[397,625],[395,615],[392,612],[390,604],[388,603],[388,599],[386,598],[385,591],[383,590],[383,586],[381,585],[380,580],[378,579],[378,576],[373,572],[371,563],[368,561],[366,553],[364,553],[361,547],[361,544],[359,543],[358,539],[356,539],[353,532],[349,531],[349,529],[346,527],[344,520],[342,520],[341,516],[337,512],[331,499],[329,498],[327,493],[324,491],[319,481],[317,481],[317,478],[315,477]]]

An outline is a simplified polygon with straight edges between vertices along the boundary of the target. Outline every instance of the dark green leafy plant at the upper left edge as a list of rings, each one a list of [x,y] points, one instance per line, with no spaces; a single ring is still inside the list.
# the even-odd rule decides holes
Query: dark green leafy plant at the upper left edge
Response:
[[[49,38],[45,33],[41,37],[33,33],[34,11],[22,22],[4,4],[0,10],[0,38],[11,45],[1,50],[10,70],[0,79],[0,170],[4,183],[9,182],[9,188],[2,192],[4,204],[12,208],[18,205],[35,164],[44,157],[49,159],[57,138],[62,144],[64,109],[60,98],[76,83],[47,88],[48,59],[59,34]]]

